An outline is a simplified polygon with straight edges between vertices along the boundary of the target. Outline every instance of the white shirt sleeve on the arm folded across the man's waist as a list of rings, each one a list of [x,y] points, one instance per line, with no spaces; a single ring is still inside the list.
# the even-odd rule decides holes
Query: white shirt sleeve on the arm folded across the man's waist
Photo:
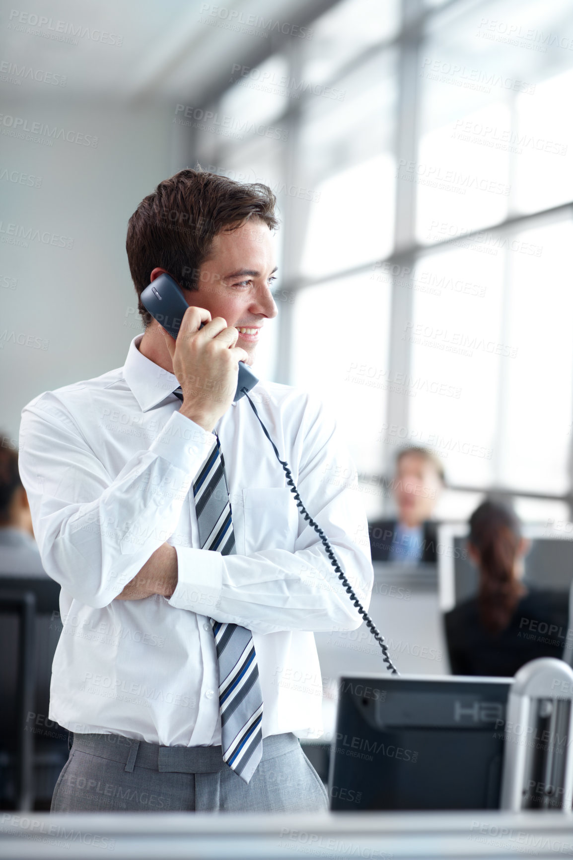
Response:
[[[263,436],[261,444],[269,444]],[[373,567],[366,513],[354,463],[322,404],[305,410],[290,454],[300,498],[367,610]],[[276,468],[281,470],[278,461]],[[296,505],[294,495],[292,502]],[[259,633],[354,630],[362,622],[321,538],[302,514],[292,551],[269,546],[250,555],[221,556],[188,547],[176,552],[178,584],[169,602],[177,608]]]

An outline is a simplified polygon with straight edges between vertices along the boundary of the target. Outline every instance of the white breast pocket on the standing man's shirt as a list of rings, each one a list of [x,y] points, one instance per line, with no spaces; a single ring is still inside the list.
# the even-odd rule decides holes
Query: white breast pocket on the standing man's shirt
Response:
[[[260,550],[294,550],[299,511],[286,487],[243,489],[245,555]]]

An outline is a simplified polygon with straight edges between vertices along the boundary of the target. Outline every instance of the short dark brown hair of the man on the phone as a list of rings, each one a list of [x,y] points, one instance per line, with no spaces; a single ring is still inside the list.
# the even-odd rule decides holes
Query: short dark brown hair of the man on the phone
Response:
[[[213,238],[249,218],[261,218],[275,230],[279,222],[274,206],[276,198],[262,182],[236,182],[206,170],[180,170],[160,182],[127,227],[127,259],[145,327],[152,316],[141,304],[141,293],[154,268],[164,268],[183,289],[196,290],[199,267],[208,259]]]

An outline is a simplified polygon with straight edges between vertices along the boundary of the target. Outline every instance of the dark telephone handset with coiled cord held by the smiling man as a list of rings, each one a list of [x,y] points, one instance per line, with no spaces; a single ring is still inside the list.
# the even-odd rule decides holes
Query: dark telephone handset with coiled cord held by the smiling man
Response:
[[[185,300],[182,290],[176,284],[175,280],[171,278],[170,275],[167,273],[160,274],[154,281],[151,282],[149,286],[145,287],[145,290],[141,293],[141,301],[145,309],[149,310],[151,316],[155,317],[155,319],[157,319],[157,322],[159,322],[163,326],[163,329],[169,332],[169,335],[176,338],[179,332],[179,328],[181,326],[183,314],[188,309],[188,302]],[[202,328],[203,325],[204,323],[200,325],[200,328]],[[380,635],[379,630],[376,629],[372,618],[367,614],[367,611],[360,604],[360,600],[356,597],[353,587],[348,582],[348,579],[346,578],[346,575],[340,567],[338,560],[332,550],[332,547],[328,542],[328,538],[324,534],[321,527],[317,524],[317,522],[312,519],[311,514],[308,513],[302,501],[300,500],[299,490],[296,488],[296,485],[293,481],[291,470],[289,469],[286,460],[280,459],[279,451],[276,445],[274,445],[273,439],[271,439],[268,435],[267,427],[265,427],[262,423],[261,416],[256,411],[256,406],[254,402],[252,402],[252,400],[250,399],[248,392],[256,385],[257,382],[258,379],[256,378],[255,374],[250,371],[250,368],[242,361],[239,361],[237,393],[235,394],[234,399],[235,401],[237,401],[240,397],[244,395],[250,402],[250,406],[253,409],[262,427],[262,432],[265,434],[270,444],[273,445],[274,453],[285,472],[286,483],[290,491],[294,494],[294,499],[296,501],[300,513],[302,513],[304,519],[306,519],[311,524],[314,531],[317,532],[318,537],[320,537],[324,550],[326,550],[326,555],[329,556],[330,564],[332,564],[333,568],[335,568],[336,574],[338,574],[338,579],[342,582],[342,586],[348,593],[348,598],[359,611],[360,615],[364,618],[364,622],[367,625],[368,630],[370,630],[374,639],[376,640],[376,642],[378,642],[380,648],[382,649],[382,654],[384,654],[383,660],[386,664],[386,668],[389,672],[397,675],[397,668],[391,661],[390,654],[388,654],[388,648],[386,647],[383,636]]]

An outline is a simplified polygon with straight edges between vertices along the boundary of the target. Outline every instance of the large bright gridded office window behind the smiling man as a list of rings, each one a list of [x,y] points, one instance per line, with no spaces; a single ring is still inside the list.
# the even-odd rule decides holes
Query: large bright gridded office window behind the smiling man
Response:
[[[371,516],[413,444],[443,460],[438,515],[494,489],[570,519],[569,3],[342,0],[305,26],[209,106],[235,133],[193,143],[277,194],[259,370],[336,409]]]

